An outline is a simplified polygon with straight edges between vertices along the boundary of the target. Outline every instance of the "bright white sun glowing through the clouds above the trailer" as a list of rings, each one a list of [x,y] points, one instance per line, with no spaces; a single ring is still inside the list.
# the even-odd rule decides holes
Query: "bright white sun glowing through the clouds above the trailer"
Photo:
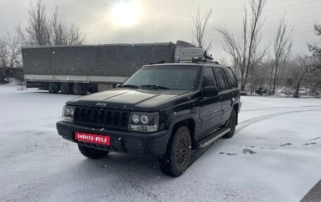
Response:
[[[140,14],[138,1],[121,1],[113,6],[109,17],[114,25],[128,27],[139,22]]]

